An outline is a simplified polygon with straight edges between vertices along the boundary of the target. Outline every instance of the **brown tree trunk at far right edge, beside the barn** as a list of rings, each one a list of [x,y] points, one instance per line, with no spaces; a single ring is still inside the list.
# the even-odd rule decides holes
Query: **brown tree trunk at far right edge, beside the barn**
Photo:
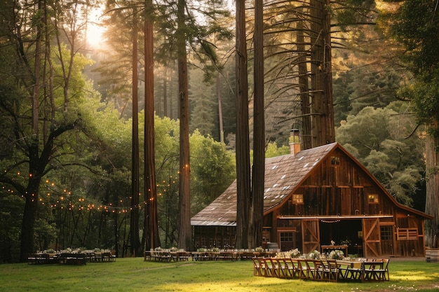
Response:
[[[435,127],[438,127],[436,124]],[[426,245],[433,246],[434,236],[439,236],[439,142],[432,136],[426,138],[426,204],[425,212],[433,216],[433,220],[426,221]],[[438,239],[436,239],[438,240]],[[436,242],[436,245],[437,242]],[[438,247],[438,246],[435,246]]]

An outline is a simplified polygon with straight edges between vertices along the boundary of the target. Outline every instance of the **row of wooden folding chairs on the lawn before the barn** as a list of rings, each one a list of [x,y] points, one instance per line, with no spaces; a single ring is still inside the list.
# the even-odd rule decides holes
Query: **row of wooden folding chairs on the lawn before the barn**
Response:
[[[285,279],[311,279],[316,281],[388,281],[389,260],[364,261],[360,267],[337,260],[311,260],[296,258],[252,258],[253,274],[262,277]]]

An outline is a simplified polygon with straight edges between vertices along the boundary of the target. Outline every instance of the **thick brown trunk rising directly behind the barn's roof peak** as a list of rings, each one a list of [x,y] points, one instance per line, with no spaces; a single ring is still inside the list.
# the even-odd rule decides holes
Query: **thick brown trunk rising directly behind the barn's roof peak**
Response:
[[[311,0],[313,147],[335,141],[329,0]]]

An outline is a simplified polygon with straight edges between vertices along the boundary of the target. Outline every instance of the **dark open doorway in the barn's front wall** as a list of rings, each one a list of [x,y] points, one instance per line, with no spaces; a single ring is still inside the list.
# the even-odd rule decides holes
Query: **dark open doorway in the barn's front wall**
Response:
[[[320,244],[348,245],[348,253],[363,256],[363,227],[361,219],[320,220]],[[347,256],[347,255],[345,255]]]

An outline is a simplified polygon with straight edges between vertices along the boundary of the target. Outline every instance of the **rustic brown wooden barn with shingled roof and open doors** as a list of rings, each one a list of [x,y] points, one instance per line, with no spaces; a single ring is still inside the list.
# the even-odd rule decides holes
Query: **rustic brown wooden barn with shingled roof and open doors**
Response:
[[[263,247],[424,256],[424,220],[432,217],[396,202],[338,143],[265,163]],[[234,249],[236,181],[191,225],[196,248]]]

